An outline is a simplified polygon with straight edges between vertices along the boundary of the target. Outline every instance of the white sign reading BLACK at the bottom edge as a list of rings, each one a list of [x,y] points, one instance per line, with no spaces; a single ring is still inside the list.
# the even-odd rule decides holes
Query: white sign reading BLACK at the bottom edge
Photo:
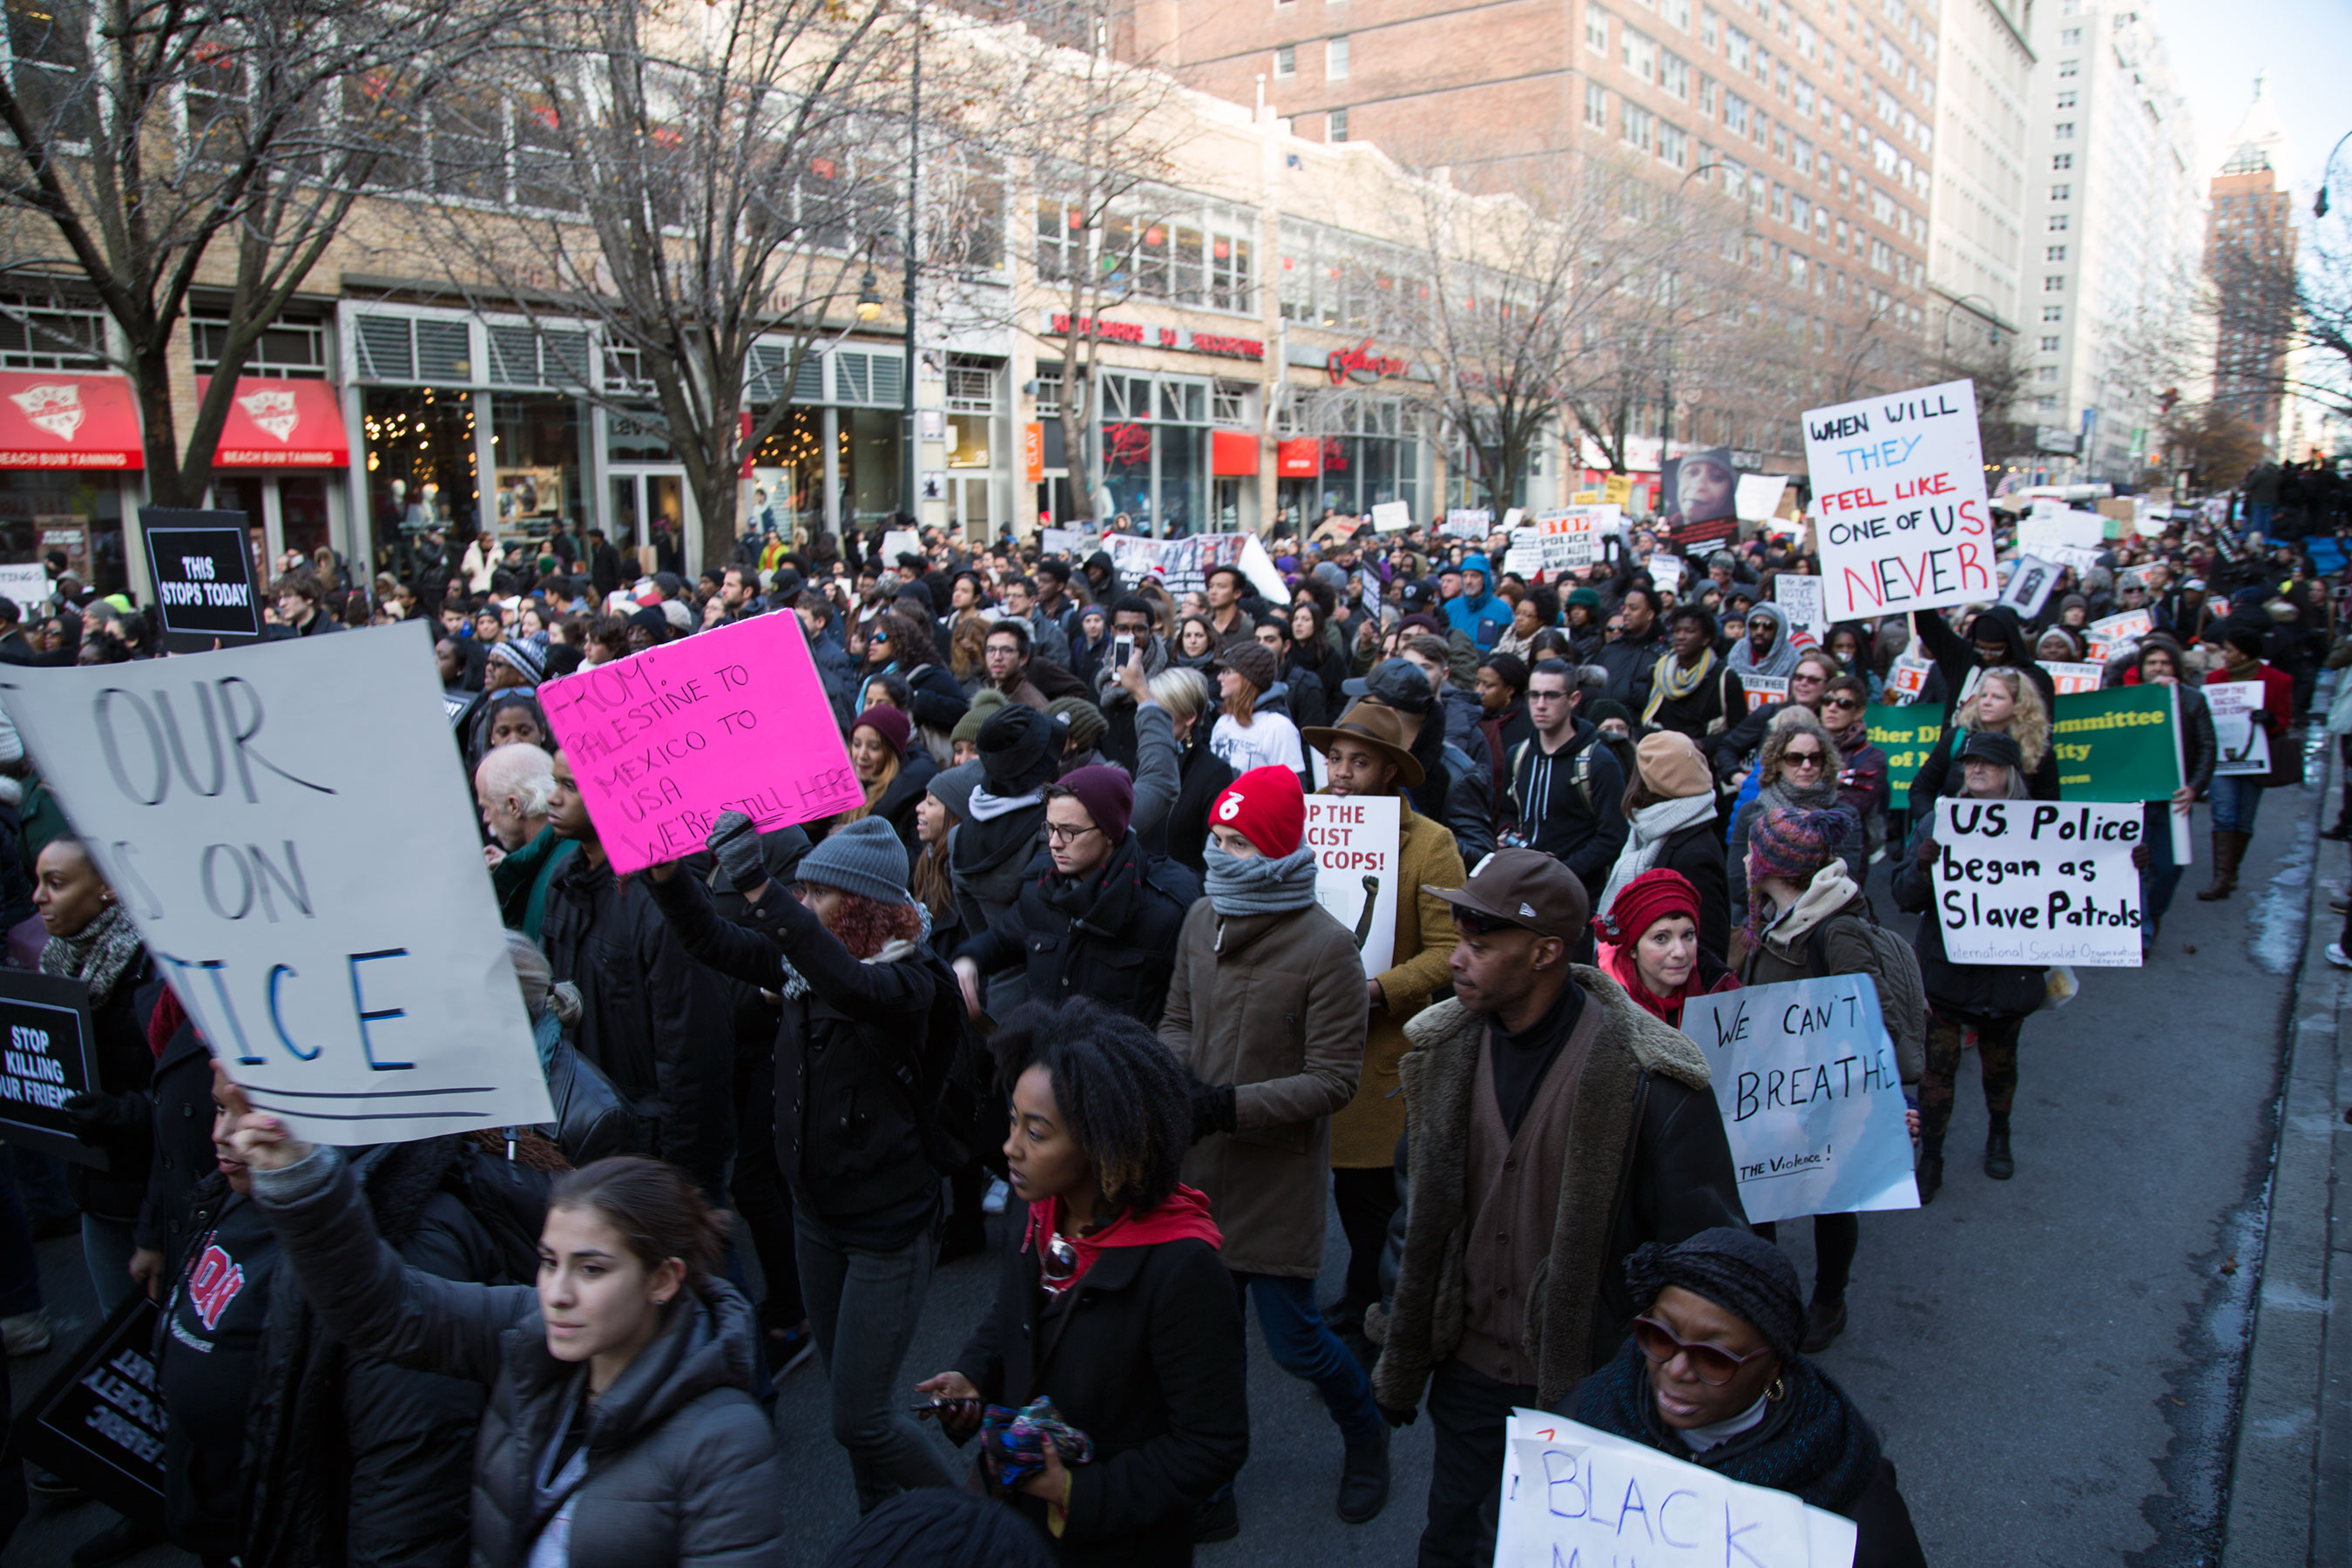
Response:
[[[1853,1568],[1853,1521],[1797,1493],[1545,1410],[1503,1436],[1494,1568]]]

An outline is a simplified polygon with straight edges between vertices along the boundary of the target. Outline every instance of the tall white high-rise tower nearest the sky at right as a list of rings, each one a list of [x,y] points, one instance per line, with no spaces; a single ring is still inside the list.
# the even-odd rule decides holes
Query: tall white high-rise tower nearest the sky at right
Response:
[[[2157,447],[2157,397],[2192,357],[2197,139],[2164,40],[2129,5],[2042,5],[2032,47],[2032,355],[2016,416],[2072,435],[2077,451],[2053,454],[2058,473],[2138,482]]]

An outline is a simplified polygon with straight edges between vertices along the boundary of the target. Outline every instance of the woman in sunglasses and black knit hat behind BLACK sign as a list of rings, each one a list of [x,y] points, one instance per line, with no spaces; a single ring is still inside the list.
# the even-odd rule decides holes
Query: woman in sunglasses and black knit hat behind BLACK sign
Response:
[[[1851,1519],[1853,1568],[1924,1568],[1879,1434],[1797,1349],[1804,1309],[1780,1248],[1703,1229],[1635,1251],[1625,1281],[1646,1307],[1576,1387],[1571,1420]]]

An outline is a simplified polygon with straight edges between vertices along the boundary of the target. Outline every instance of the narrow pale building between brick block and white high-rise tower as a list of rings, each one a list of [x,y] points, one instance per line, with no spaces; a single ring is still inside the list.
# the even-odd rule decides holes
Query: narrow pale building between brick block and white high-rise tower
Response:
[[[2032,0],[1947,0],[1936,61],[1929,334],[1940,360],[2016,348]]]

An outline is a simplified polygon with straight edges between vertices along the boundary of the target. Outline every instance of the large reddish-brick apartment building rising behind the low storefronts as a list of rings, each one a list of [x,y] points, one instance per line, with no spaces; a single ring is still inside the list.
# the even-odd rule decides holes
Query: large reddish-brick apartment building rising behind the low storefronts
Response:
[[[1929,331],[1933,0],[1122,2],[1134,59],[1310,139],[1376,141],[1472,186],[1564,148],[1630,155],[1661,188],[1717,183],[1750,207],[1757,310],[1809,331],[1823,367]],[[1790,409],[1731,423],[1762,465],[1792,465]],[[1675,411],[1677,444],[1722,428]],[[1635,468],[1656,463],[1656,437],[1642,447]]]

